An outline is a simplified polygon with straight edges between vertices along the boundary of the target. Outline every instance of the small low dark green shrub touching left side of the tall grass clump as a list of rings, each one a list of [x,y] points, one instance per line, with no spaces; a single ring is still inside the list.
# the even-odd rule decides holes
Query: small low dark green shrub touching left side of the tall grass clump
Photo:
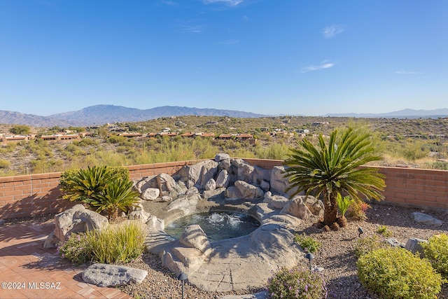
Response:
[[[73,233],[57,248],[59,256],[78,265],[92,260],[92,244],[85,232]]]

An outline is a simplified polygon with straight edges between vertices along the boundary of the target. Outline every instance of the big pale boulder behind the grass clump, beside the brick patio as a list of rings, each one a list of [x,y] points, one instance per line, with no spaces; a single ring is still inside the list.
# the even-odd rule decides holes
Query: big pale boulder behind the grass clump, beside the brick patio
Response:
[[[107,225],[109,221],[106,217],[85,209],[83,204],[76,204],[55,216],[55,237],[65,242],[73,232],[102,230]]]

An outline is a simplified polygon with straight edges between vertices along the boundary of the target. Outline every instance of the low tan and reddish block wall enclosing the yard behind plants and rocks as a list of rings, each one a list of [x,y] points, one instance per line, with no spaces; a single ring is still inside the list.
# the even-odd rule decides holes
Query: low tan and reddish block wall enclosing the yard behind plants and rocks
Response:
[[[251,165],[272,169],[282,160],[244,159]],[[175,174],[184,165],[201,160],[134,165],[130,179],[161,173]],[[378,167],[386,175],[386,203],[448,211],[448,171]],[[60,172],[0,177],[0,219],[51,214],[63,211],[73,202],[62,200],[59,190]]]

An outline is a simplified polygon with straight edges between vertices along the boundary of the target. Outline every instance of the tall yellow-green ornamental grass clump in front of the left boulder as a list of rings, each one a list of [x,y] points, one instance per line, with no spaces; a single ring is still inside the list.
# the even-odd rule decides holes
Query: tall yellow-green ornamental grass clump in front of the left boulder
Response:
[[[129,263],[144,251],[145,230],[139,221],[109,225],[87,233],[93,259],[99,263]]]

